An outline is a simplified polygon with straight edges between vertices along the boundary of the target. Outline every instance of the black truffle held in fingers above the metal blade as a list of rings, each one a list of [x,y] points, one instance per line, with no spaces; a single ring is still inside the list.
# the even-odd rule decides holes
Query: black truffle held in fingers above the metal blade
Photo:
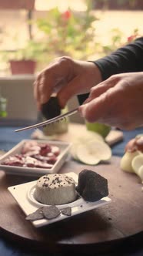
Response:
[[[58,98],[52,96],[48,103],[42,105],[42,114],[47,120],[59,116],[61,114],[61,108],[58,104]]]

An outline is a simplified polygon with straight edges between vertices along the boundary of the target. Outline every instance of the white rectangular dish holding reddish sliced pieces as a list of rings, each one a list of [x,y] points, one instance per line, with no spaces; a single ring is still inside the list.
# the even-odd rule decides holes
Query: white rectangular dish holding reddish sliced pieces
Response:
[[[53,167],[51,169],[45,169],[45,168],[15,167],[15,166],[2,165],[2,162],[6,158],[10,156],[14,156],[17,153],[21,153],[21,150],[25,141],[37,141],[38,143],[48,143],[49,145],[58,146],[60,149],[60,154],[58,156],[58,160],[55,162],[55,164],[53,164]],[[71,147],[71,143],[66,143],[62,141],[22,140],[15,147],[13,147],[12,150],[9,150],[2,157],[0,157],[0,170],[4,170],[5,173],[24,175],[24,176],[33,176],[33,177],[41,177],[45,173],[57,173],[58,170],[60,170],[62,165],[65,163],[65,160],[67,160],[70,147]]]

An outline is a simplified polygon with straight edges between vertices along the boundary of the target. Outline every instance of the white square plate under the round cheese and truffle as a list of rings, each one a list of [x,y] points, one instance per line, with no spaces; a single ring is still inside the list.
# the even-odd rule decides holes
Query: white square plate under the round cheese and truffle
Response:
[[[78,184],[78,175],[75,173],[65,173],[66,175],[72,177],[75,180],[75,183]],[[17,201],[18,205],[22,208],[22,211],[25,212],[25,215],[32,214],[34,211],[36,211],[39,207],[43,207],[43,204],[38,203],[32,194],[32,190],[35,187],[37,180],[28,182],[25,184],[20,184],[12,187],[8,187],[9,192],[12,194],[12,196]],[[88,202],[83,200],[83,198],[79,198],[78,200],[75,200],[74,202],[70,204],[65,204],[62,206],[57,206],[59,209],[65,208],[65,207],[71,207],[71,216],[65,216],[63,214],[60,214],[58,217],[52,220],[38,220],[38,221],[32,221],[32,224],[35,227],[42,227],[48,224],[52,224],[56,221],[62,221],[65,218],[73,217],[77,214],[84,213],[85,211],[90,211],[92,209],[95,209],[97,207],[101,207],[105,204],[108,204],[111,201],[109,197],[103,197],[101,200],[95,201],[95,202]],[[25,216],[25,217],[26,217]]]

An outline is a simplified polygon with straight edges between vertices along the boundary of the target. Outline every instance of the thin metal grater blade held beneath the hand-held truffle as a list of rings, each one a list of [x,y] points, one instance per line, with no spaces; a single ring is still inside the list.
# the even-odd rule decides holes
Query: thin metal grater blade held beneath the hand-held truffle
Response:
[[[36,123],[36,124],[33,124],[32,126],[26,126],[24,128],[21,128],[21,129],[18,129],[18,130],[15,130],[15,132],[22,132],[23,130],[30,130],[30,129],[34,129],[34,128],[38,128],[38,127],[41,127],[41,126],[46,126],[50,123],[55,123],[59,120],[62,120],[64,119],[65,117],[68,117],[68,116],[71,116],[75,113],[78,112],[78,107],[76,109],[72,109],[71,111],[68,111],[67,113],[64,113],[62,115],[59,115],[59,116],[55,116],[54,118],[50,119],[50,120],[46,120],[42,123]]]

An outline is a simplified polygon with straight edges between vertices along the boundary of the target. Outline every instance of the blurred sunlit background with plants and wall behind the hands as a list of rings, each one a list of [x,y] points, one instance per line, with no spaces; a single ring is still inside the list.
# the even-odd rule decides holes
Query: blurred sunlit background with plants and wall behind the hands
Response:
[[[141,0],[0,0],[1,124],[35,123],[32,84],[55,57],[105,56],[143,35],[142,17]]]

